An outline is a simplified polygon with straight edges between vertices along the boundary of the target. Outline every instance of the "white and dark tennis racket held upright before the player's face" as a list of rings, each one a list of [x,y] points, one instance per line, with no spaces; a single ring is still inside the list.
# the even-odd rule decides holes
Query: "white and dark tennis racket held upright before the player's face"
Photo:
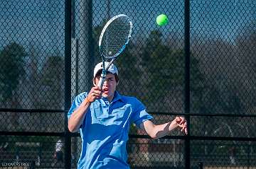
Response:
[[[100,55],[102,58],[102,74],[98,86],[102,88],[107,70],[115,59],[127,46],[132,35],[132,21],[124,14],[114,16],[107,21],[102,29],[99,40]],[[109,64],[105,65],[105,62]]]

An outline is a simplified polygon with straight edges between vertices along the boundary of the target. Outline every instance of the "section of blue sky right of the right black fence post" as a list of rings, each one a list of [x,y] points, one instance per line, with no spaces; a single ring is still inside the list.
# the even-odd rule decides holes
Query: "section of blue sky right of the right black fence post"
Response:
[[[253,0],[191,1],[191,34],[233,42],[255,13]]]

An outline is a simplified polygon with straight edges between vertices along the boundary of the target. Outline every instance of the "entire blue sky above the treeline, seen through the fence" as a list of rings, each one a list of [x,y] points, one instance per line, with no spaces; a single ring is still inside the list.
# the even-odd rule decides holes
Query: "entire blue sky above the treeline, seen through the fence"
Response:
[[[107,17],[107,1],[110,2],[110,17],[124,13],[132,18],[133,38],[139,35],[146,37],[151,30],[156,29],[166,37],[171,33],[183,37],[183,1],[94,0],[93,26]],[[218,37],[233,42],[235,37],[242,33],[244,26],[255,23],[254,0],[191,0],[190,4],[191,37]],[[64,0],[1,0],[0,49],[9,42],[15,41],[25,46],[33,42],[45,52],[63,53],[64,5]],[[79,11],[79,7],[75,10]],[[155,20],[161,13],[169,17],[169,23],[159,27]],[[79,22],[80,19],[80,13],[76,13],[76,21]]]

